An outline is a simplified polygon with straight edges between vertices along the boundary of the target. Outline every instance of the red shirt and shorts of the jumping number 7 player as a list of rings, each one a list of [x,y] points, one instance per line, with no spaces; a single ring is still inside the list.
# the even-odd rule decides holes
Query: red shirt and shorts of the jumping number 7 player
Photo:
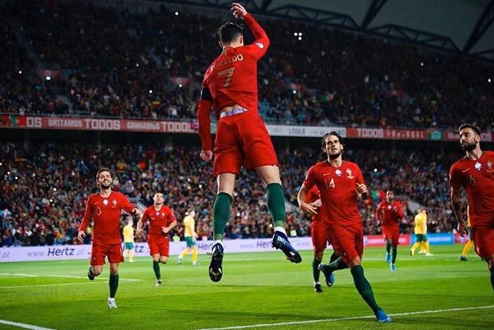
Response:
[[[278,165],[273,143],[258,113],[257,62],[266,54],[269,38],[251,14],[244,17],[256,40],[251,45],[225,47],[206,70],[197,119],[202,150],[213,150],[210,108],[218,119],[214,141],[214,176],[239,174],[240,167],[254,169]],[[232,110],[220,111],[227,106]]]

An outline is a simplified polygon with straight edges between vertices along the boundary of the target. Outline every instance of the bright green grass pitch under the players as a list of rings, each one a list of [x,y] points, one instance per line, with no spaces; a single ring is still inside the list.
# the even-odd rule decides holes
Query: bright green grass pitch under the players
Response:
[[[355,319],[371,316],[371,310],[349,270],[336,272],[334,287],[323,285],[324,292],[315,294],[311,251],[304,251],[304,261],[297,265],[281,252],[227,253],[219,283],[208,277],[208,256],[199,255],[195,267],[190,255],[182,265],[172,256],[161,268],[162,287],[154,286],[151,258],[136,258],[120,266],[118,309],[106,305],[108,265],[90,282],[85,260],[0,263],[0,320],[55,330],[494,329],[489,272],[473,251],[469,261],[460,262],[460,245],[432,246],[432,257],[410,257],[408,248],[399,248],[394,273],[384,260],[384,248],[367,248],[362,263],[380,306],[399,314],[391,324]],[[329,257],[327,251],[325,260]],[[463,309],[468,307],[485,308]],[[447,309],[458,310],[435,312]],[[408,314],[421,311],[434,312]],[[354,319],[337,320],[341,318]],[[324,321],[306,322],[311,320]],[[282,324],[269,325],[274,323]],[[0,329],[22,328],[0,323]]]

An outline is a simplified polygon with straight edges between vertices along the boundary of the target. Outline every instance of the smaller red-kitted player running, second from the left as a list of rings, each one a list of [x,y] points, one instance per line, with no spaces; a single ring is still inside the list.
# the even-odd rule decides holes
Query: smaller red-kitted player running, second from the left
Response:
[[[177,220],[173,211],[164,205],[162,193],[156,193],[153,197],[154,204],[145,209],[140,220],[137,222],[136,233],[143,231],[143,224],[149,220],[149,232],[147,244],[149,255],[153,257],[153,270],[156,276],[156,286],[162,285],[160,263],[165,264],[170,255],[169,232],[177,226]]]

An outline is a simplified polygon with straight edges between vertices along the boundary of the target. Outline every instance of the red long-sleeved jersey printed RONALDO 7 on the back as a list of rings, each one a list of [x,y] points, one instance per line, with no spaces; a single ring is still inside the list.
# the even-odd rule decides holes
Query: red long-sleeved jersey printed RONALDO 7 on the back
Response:
[[[245,15],[243,20],[256,41],[243,47],[226,47],[204,75],[201,99],[212,100],[217,119],[223,108],[234,104],[247,109],[251,115],[258,115],[257,62],[266,54],[269,38],[251,14]],[[197,119],[203,150],[212,150],[209,116],[210,108],[203,109],[199,103]]]

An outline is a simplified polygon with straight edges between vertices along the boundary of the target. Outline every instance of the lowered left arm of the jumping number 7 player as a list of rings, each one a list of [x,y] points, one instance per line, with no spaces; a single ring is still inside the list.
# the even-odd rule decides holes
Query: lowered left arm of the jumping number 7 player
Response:
[[[203,161],[210,161],[212,159],[211,105],[211,92],[208,86],[202,86],[201,96],[199,97],[199,104],[197,106],[197,121],[199,122],[199,136],[202,142],[200,156]]]

